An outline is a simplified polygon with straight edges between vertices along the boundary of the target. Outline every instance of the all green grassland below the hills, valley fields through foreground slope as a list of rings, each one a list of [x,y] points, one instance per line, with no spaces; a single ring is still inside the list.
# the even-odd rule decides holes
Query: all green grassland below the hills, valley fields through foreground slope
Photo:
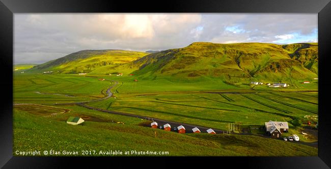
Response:
[[[14,104],[35,105],[14,106],[14,151],[62,151],[67,147],[68,151],[169,151],[175,156],[317,155],[317,83],[307,85],[307,89],[300,83],[298,88],[271,89],[263,85],[239,88],[222,83],[140,83],[134,82],[134,77],[100,78],[17,75]],[[112,97],[106,97],[109,86],[113,86]],[[81,117],[85,122],[68,125],[65,121],[69,116]],[[153,129],[147,127],[151,119],[206,127],[202,130],[213,128],[217,134]],[[263,136],[262,127],[269,120],[289,122],[289,133],[284,136],[297,134],[302,144]],[[235,126],[233,133],[223,134],[229,124]],[[304,138],[302,132],[309,137]],[[270,151],[272,147],[278,151]]]

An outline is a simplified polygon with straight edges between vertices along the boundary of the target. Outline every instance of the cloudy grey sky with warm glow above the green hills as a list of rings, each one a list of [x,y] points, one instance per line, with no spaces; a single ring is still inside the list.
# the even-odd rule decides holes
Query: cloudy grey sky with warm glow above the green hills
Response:
[[[318,42],[317,19],[317,14],[14,14],[14,64],[44,63],[87,49]]]

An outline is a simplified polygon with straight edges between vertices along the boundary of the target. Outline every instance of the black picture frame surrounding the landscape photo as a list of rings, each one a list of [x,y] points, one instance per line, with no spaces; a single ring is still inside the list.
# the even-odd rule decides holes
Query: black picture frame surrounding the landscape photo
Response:
[[[0,167],[59,168],[105,162],[150,167],[151,163],[172,164],[178,157],[14,157],[13,148],[13,14],[15,13],[318,13],[319,43],[319,139],[316,157],[181,157],[187,163],[253,168],[329,168],[331,166],[331,122],[328,93],[331,83],[331,3],[329,0],[227,0],[227,1],[86,1],[86,0],[0,0],[0,68],[2,95],[0,107]],[[270,150],[277,151],[277,150]],[[78,163],[79,161],[79,163]],[[147,162],[147,164],[145,163]],[[145,164],[144,164],[145,163]]]

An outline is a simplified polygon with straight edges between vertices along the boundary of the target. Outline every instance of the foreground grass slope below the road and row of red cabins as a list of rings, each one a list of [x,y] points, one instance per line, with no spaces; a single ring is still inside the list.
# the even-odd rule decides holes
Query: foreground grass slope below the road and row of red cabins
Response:
[[[77,106],[63,108],[70,109],[70,112],[47,118],[14,108],[13,151],[168,151],[171,156],[317,155],[316,148],[281,140],[207,133],[179,134],[142,126],[146,121],[137,118]],[[68,125],[65,120],[69,116],[84,117],[86,122]]]

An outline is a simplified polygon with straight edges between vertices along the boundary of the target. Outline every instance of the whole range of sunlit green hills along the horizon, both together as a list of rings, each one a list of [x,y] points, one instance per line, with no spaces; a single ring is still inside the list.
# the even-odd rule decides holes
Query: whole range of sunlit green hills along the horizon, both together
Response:
[[[228,83],[243,79],[309,80],[318,76],[318,44],[196,42],[156,53],[84,50],[36,65],[26,72],[43,71],[102,75],[121,72],[151,79],[216,77]]]

